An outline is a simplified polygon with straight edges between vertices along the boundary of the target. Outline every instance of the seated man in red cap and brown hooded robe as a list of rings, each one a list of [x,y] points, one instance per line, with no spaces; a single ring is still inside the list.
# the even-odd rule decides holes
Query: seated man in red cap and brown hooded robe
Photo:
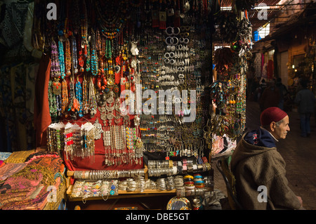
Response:
[[[232,154],[237,199],[244,209],[303,209],[301,197],[289,188],[285,162],[275,145],[290,131],[289,116],[278,107],[269,107],[260,120],[261,127],[245,133]],[[261,197],[262,189],[266,200]]]

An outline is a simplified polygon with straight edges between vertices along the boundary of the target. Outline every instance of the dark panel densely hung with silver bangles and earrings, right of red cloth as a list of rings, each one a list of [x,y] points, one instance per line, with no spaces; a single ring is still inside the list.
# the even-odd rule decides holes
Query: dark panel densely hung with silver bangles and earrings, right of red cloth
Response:
[[[209,76],[208,73],[202,77],[202,72],[210,62],[211,31],[209,23],[201,18],[204,13],[199,14],[197,8],[183,9],[178,21],[171,20],[176,13],[171,9],[166,12],[166,26],[157,32],[151,32],[149,27],[149,39],[140,41],[143,91],[153,89],[157,93],[157,108],[151,108],[157,114],[144,111],[140,116],[140,131],[148,159],[195,157],[202,162],[205,146],[202,128],[207,116],[202,80]],[[157,44],[148,48],[150,42]],[[166,91],[180,94],[168,95]],[[195,98],[191,91],[195,91]],[[143,99],[145,106],[148,102],[150,98]],[[176,103],[187,107],[176,110]],[[191,103],[196,107],[190,108]],[[172,108],[172,113],[168,108]],[[191,109],[195,110],[195,118],[185,122],[192,115]]]

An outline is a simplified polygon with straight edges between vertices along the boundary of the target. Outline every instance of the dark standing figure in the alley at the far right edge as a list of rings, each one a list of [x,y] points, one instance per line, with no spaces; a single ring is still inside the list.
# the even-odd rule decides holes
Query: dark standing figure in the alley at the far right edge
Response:
[[[300,114],[301,136],[303,138],[310,136],[310,116],[315,111],[315,95],[308,89],[308,81],[301,81],[302,89],[296,93],[294,102],[298,105],[298,114]]]

